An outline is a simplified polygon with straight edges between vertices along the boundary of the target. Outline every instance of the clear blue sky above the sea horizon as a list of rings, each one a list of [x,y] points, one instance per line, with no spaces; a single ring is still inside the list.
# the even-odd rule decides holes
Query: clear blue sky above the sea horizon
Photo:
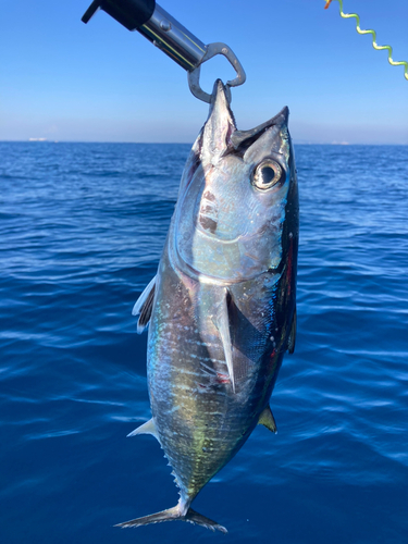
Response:
[[[0,1],[0,140],[191,143],[208,106],[183,69],[90,0]],[[239,128],[283,106],[298,143],[408,144],[408,81],[355,21],[324,0],[161,0],[201,41],[226,42],[247,73],[233,89]],[[344,0],[395,60],[408,61],[408,1]],[[202,87],[233,71],[218,58]]]

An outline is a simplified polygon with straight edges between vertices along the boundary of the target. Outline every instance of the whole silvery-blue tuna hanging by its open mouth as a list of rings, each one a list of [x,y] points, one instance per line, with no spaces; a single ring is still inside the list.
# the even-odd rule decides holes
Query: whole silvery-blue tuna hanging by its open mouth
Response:
[[[238,131],[226,87],[187,159],[157,275],[137,300],[147,326],[153,435],[176,506],[119,523],[183,520],[226,532],[191,503],[257,424],[276,432],[270,397],[296,337],[298,184],[288,109]]]

